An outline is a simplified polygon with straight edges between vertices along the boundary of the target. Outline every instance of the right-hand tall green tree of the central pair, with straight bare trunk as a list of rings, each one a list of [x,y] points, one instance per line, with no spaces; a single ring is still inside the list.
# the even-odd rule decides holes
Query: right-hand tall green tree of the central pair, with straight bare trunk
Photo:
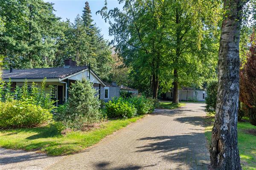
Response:
[[[173,72],[173,103],[178,102],[178,88],[200,85],[205,62],[217,61],[217,53],[209,55],[218,37],[220,1],[175,0],[168,2],[169,60]],[[198,10],[200,9],[200,10]],[[215,59],[215,60],[212,60]]]

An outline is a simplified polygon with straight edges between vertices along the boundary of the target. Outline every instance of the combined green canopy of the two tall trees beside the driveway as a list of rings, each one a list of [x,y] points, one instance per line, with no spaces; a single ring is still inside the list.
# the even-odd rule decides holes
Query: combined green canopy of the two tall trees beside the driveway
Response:
[[[201,86],[216,77],[220,1],[119,0],[122,9],[97,13],[110,24],[116,51],[131,71],[131,85],[157,98],[177,81]],[[200,10],[198,10],[200,9]],[[178,76],[174,76],[174,70]]]

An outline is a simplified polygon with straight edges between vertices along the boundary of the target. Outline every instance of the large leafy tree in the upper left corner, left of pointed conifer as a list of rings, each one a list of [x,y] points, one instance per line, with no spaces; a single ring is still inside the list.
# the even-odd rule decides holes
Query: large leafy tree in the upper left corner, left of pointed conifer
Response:
[[[1,1],[0,16],[7,21],[0,35],[5,66],[32,68],[49,66],[54,58],[59,18],[51,3],[42,0]]]

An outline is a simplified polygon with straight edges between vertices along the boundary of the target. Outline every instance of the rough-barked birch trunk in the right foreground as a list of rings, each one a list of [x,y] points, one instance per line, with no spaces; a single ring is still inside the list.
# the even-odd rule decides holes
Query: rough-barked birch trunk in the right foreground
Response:
[[[218,96],[209,169],[241,170],[237,145],[239,40],[243,0],[224,0],[218,60]]]

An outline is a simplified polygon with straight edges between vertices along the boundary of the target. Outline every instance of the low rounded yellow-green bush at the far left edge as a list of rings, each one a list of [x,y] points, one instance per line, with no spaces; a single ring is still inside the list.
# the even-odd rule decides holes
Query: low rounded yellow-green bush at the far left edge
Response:
[[[0,102],[0,127],[36,127],[52,119],[52,113],[26,101]]]

